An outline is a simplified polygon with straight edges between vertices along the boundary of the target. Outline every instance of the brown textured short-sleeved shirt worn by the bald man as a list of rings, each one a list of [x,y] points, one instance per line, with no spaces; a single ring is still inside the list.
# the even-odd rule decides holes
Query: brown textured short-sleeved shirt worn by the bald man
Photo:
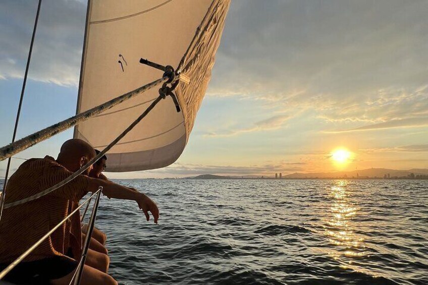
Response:
[[[6,204],[37,194],[72,175],[50,156],[32,158],[11,176]],[[3,210],[0,220],[0,263],[11,262],[73,211],[87,194],[88,179],[79,175],[65,186],[36,200]],[[71,231],[71,233],[70,233]],[[82,233],[79,211],[42,242],[24,261],[80,254]]]

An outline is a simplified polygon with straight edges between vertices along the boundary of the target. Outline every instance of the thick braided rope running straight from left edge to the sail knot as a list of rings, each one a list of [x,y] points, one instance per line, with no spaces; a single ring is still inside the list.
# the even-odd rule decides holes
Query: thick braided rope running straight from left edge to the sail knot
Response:
[[[131,92],[128,92],[126,94],[123,94],[119,97],[116,97],[108,102],[105,102],[101,105],[98,105],[96,107],[93,107],[92,109],[89,109],[87,111],[81,112],[80,114],[73,116],[67,120],[64,120],[58,124],[52,125],[50,127],[47,127],[41,131],[38,131],[32,135],[29,135],[25,138],[22,138],[14,143],[11,143],[7,146],[4,146],[0,148],[0,161],[5,160],[6,158],[9,158],[13,156],[14,154],[17,154],[18,152],[21,152],[41,141],[44,141],[53,135],[56,135],[60,132],[63,132],[74,125],[77,125],[81,122],[84,122],[88,120],[91,117],[94,117],[95,115],[98,115],[99,113],[108,110],[126,100],[129,100],[137,95],[139,95],[142,92],[145,92],[157,85],[163,84],[170,80],[169,77],[164,76],[161,79],[155,80],[149,84],[146,84],[140,88],[137,88]]]

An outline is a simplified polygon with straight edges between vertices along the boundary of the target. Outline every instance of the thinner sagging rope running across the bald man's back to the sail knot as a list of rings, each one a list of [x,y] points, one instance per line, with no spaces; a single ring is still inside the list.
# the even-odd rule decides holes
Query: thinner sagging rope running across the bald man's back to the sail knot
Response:
[[[159,80],[158,80],[159,81]],[[96,155],[94,158],[92,158],[88,163],[83,165],[79,170],[77,170],[75,173],[73,173],[71,176],[66,178],[65,180],[61,181],[60,183],[53,185],[52,187],[41,191],[35,195],[29,196],[25,199],[18,200],[15,202],[11,202],[8,204],[5,204],[5,209],[24,204],[26,202],[33,201],[35,199],[38,199],[46,194],[49,194],[52,191],[57,190],[58,188],[66,185],[73,179],[75,179],[78,175],[81,175],[86,169],[88,169],[92,164],[94,164],[99,158],[101,158],[106,152],[108,152],[115,144],[117,144],[126,134],[128,134],[144,117],[147,116],[147,114],[154,108],[154,106],[162,100],[162,95],[159,95],[148,107],[147,109],[128,127],[125,131],[122,132],[114,141],[112,141],[108,146],[106,146],[98,155]],[[3,195],[2,195],[3,196]]]

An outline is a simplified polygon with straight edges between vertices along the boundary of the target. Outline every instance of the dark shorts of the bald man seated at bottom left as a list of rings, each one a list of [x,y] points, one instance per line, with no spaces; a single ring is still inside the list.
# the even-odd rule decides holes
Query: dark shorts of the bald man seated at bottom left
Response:
[[[0,263],[0,270],[5,269],[9,264]],[[54,256],[21,262],[3,280],[14,284],[49,284],[49,280],[64,277],[76,267],[77,261],[65,256]]]

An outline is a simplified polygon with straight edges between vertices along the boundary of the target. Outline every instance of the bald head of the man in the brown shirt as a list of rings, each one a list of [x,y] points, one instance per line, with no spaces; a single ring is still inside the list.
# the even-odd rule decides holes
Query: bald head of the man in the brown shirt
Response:
[[[80,139],[71,139],[61,146],[57,162],[71,172],[76,172],[94,157],[95,150],[90,144]],[[92,166],[89,167],[84,174],[88,175],[91,168]]]

